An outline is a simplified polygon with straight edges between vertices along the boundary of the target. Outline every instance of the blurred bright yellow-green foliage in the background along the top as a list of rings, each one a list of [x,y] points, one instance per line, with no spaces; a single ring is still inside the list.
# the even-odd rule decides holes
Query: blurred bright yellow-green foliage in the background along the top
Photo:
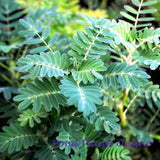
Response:
[[[50,24],[51,32],[59,32],[60,34],[67,34],[68,37],[76,35],[77,30],[83,30],[83,26],[76,23],[80,19],[78,12],[86,13],[89,16],[95,16],[99,18],[100,16],[107,18],[106,11],[104,9],[80,9],[79,0],[16,0],[24,7],[29,7],[32,10],[34,6],[37,8],[51,8],[53,6],[58,6],[57,11],[60,12],[57,15],[57,20]],[[106,2],[103,2],[106,3]]]

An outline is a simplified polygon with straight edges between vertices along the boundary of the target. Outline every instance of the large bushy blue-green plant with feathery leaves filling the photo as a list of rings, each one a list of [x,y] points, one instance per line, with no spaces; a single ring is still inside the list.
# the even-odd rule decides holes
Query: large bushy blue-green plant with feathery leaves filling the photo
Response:
[[[18,91],[13,87],[0,89],[7,101],[12,98],[11,93],[18,94],[12,105],[4,102],[0,107],[0,113],[4,113],[0,118],[9,117],[10,124],[0,133],[3,157],[8,152],[12,160],[22,157],[130,160],[134,153],[123,146],[115,144],[106,149],[97,146],[94,152],[89,145],[95,141],[114,141],[120,136],[153,142],[156,137],[153,134],[159,131],[155,132],[150,126],[154,120],[154,126],[158,126],[160,89],[149,82],[151,77],[146,68],[159,67],[160,29],[138,24],[152,20],[139,16],[150,13],[141,7],[154,1],[132,2],[138,9],[130,6],[125,9],[136,18],[125,12],[122,15],[134,21],[134,25],[81,13],[83,20],[78,23],[85,25],[84,30],[78,30],[69,40],[58,33],[52,35],[50,26],[45,25],[46,21],[52,21],[48,15],[57,14],[54,13],[56,7],[37,10],[19,20],[23,27],[19,34],[24,37],[22,45],[27,47],[27,55],[19,56],[14,68],[16,73],[21,73]],[[139,103],[144,106],[145,102],[153,110],[147,127],[131,121],[132,118],[144,120],[133,113],[140,107]],[[8,114],[5,106],[11,110]],[[132,113],[132,118],[126,113]],[[145,117],[143,112],[141,116]],[[76,146],[75,140],[83,145]]]

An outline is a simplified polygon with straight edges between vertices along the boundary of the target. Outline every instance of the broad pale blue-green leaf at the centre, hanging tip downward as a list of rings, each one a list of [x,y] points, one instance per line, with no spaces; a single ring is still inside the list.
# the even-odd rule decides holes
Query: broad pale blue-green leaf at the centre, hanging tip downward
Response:
[[[97,85],[81,85],[73,78],[66,78],[61,81],[61,93],[69,97],[68,104],[78,107],[78,111],[83,112],[84,117],[91,112],[96,112],[96,105],[101,105],[102,96],[100,88]]]

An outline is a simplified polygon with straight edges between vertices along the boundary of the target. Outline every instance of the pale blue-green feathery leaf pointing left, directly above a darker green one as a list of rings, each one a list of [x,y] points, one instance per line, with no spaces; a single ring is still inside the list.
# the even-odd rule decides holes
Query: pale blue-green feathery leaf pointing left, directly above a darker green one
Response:
[[[58,77],[69,73],[67,71],[69,61],[65,54],[61,55],[59,52],[55,52],[55,54],[49,52],[41,53],[40,55],[28,55],[20,58],[18,63],[20,64],[19,71],[30,71],[32,78],[36,76],[44,77],[46,75]]]

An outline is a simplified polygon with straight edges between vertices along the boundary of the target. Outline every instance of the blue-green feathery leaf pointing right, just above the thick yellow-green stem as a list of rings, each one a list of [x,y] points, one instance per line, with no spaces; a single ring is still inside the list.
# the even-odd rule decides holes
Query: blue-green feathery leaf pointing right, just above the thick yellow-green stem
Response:
[[[106,70],[106,75],[103,78],[104,87],[113,88],[139,88],[141,85],[148,82],[150,76],[141,70],[137,70],[137,65],[127,66],[127,63],[112,63]]]

